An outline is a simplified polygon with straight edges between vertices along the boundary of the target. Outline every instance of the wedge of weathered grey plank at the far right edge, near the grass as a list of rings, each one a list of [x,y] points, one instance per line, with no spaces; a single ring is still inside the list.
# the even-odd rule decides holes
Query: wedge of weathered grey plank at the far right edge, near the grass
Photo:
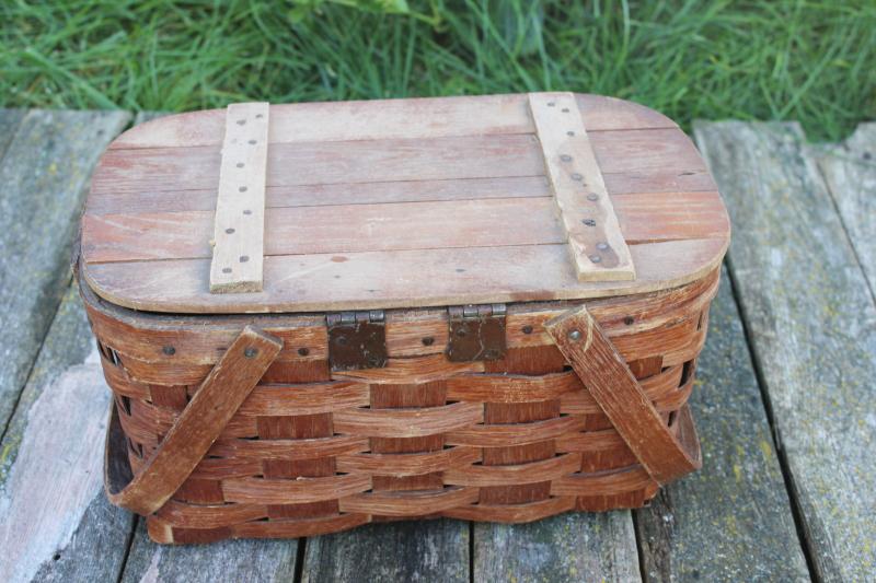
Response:
[[[816,150],[843,225],[876,290],[876,124],[862,124],[844,143]]]

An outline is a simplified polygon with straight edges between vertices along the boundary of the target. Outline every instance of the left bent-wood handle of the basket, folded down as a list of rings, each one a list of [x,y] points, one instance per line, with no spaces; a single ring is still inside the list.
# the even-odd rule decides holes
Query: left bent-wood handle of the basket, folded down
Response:
[[[164,505],[207,454],[280,348],[278,338],[246,326],[136,476],[126,455],[118,411],[111,406],[104,459],[110,501],[143,515]]]

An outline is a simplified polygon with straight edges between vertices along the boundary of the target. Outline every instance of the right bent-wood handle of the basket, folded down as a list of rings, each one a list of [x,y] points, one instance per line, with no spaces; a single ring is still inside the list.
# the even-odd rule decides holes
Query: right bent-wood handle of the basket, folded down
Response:
[[[652,478],[664,485],[702,466],[698,440],[672,434],[586,306],[561,314],[544,327]],[[680,421],[691,425],[690,413],[680,415]]]

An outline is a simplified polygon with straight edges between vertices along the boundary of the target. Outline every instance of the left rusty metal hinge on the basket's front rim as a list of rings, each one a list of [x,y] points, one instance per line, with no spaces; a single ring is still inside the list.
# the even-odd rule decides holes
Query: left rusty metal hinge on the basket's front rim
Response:
[[[387,365],[387,317],[382,310],[326,314],[328,363],[333,371]]]

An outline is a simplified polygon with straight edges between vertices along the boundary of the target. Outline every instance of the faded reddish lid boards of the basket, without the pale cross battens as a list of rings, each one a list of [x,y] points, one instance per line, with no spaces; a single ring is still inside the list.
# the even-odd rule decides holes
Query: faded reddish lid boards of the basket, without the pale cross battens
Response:
[[[610,206],[609,197],[625,197],[618,206],[621,235],[591,241],[604,248],[588,247],[588,256],[600,254],[600,267],[610,267],[619,258],[612,249],[623,248],[624,241],[680,242],[702,248],[664,246],[659,260],[633,250],[635,267],[653,273],[659,266],[672,266],[669,271],[683,266],[682,279],[695,279],[699,268],[717,265],[723,246],[713,243],[726,242],[726,212],[691,141],[659,114],[634,104],[570,94],[567,101],[560,110],[581,109],[592,145],[585,149],[590,170],[581,174],[601,172],[604,178],[600,209]],[[465,107],[471,115],[461,114]],[[286,129],[272,129],[267,153],[264,292],[219,298],[199,291],[221,166],[216,114],[206,112],[147,124],[104,156],[82,240],[85,277],[97,293],[153,311],[283,312],[500,302],[508,295],[589,298],[684,282],[667,273],[659,282],[643,278],[644,288],[636,280],[609,291],[577,277],[565,281],[568,258],[553,247],[565,248],[568,236],[553,215],[526,95],[297,104],[270,112],[272,127]],[[496,115],[507,117],[497,123]],[[410,133],[400,133],[401,127]],[[600,211],[597,219],[606,214]],[[586,234],[583,224],[570,229],[576,236]],[[503,250],[497,256],[483,250],[493,248]],[[413,255],[399,255],[405,253]],[[509,293],[500,288],[516,279],[510,275],[471,281],[472,272],[482,271],[479,265],[454,265],[453,280],[447,277],[449,260],[465,263],[472,254],[475,263],[492,266],[517,265],[519,255],[538,259],[517,269],[523,285]],[[563,277],[551,281],[542,272]],[[348,287],[371,282],[374,273],[411,275]],[[328,276],[325,283],[299,287],[321,276]],[[423,296],[419,284],[435,281],[448,281],[456,292]],[[162,299],[160,289],[171,296]],[[332,296],[314,302],[308,289],[331,290]]]

